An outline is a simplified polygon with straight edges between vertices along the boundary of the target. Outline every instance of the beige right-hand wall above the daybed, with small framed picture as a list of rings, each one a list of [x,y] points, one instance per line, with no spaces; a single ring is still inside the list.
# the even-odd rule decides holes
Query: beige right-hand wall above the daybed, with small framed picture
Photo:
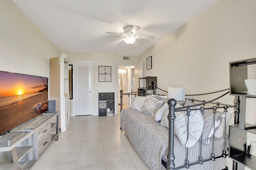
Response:
[[[229,88],[229,62],[256,57],[255,6],[255,0],[220,0],[139,55],[143,76],[157,76],[164,90],[186,86],[186,94]],[[146,70],[149,56],[152,69]]]

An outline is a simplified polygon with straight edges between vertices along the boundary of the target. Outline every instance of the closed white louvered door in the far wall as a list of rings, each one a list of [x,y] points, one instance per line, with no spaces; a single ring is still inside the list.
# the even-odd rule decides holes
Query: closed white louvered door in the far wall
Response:
[[[92,115],[92,63],[74,63],[75,115]]]

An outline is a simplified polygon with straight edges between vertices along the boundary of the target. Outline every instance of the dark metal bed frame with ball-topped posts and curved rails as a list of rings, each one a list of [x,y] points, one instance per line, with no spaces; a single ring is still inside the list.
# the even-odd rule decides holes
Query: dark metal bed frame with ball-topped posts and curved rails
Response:
[[[148,96],[150,94],[142,94],[141,92],[143,91],[146,91],[150,88],[153,87],[153,94],[156,95],[156,89],[159,89],[163,92],[166,92],[158,87],[155,86],[156,82],[153,82],[153,86],[145,89],[145,90],[141,90],[141,91],[138,91],[138,92],[130,92],[130,93],[125,93],[123,94],[123,90],[120,90],[120,109],[122,110],[122,98],[123,96],[128,96],[128,98],[130,98],[130,96]],[[192,95],[185,95],[185,96],[200,96],[200,95],[207,95],[207,94],[214,94],[214,93],[217,93],[217,92],[222,92],[222,91],[226,91],[226,90],[229,90],[229,88],[227,89],[224,89],[224,90],[219,90],[219,91],[216,91],[216,92],[210,92],[210,93],[204,93],[204,94],[192,94]],[[166,92],[168,93],[168,92]],[[224,135],[224,144],[223,144],[223,151],[222,151],[222,155],[221,156],[215,156],[214,154],[214,141],[215,141],[215,137],[214,137],[214,134],[215,134],[215,131],[214,131],[214,134],[213,134],[213,145],[212,145],[212,154],[211,154],[211,157],[209,159],[205,159],[203,160],[202,158],[202,140],[200,141],[200,153],[198,155],[198,162],[194,162],[194,163],[190,163],[189,160],[188,160],[188,152],[189,152],[189,148],[186,148],[186,160],[184,161],[184,166],[180,166],[180,167],[175,167],[175,164],[174,164],[174,160],[175,160],[175,154],[174,154],[174,121],[175,121],[175,112],[176,111],[186,111],[187,112],[187,116],[188,116],[188,127],[187,127],[187,131],[188,131],[188,128],[189,128],[189,116],[190,116],[190,111],[192,110],[200,110],[202,114],[204,114],[204,110],[206,109],[212,109],[213,110],[213,113],[214,113],[214,119],[215,119],[215,113],[216,113],[216,109],[219,109],[219,108],[223,108],[225,112],[227,112],[227,109],[229,107],[233,107],[234,108],[234,114],[235,114],[235,118],[234,118],[234,123],[239,123],[239,111],[240,111],[240,99],[238,96],[235,97],[234,99],[234,105],[227,105],[227,104],[221,104],[219,102],[213,102],[215,100],[218,100],[219,98],[225,96],[226,94],[228,94],[228,92],[225,92],[224,94],[222,94],[221,96],[217,97],[217,98],[214,98],[213,100],[210,100],[210,101],[205,101],[205,100],[194,100],[194,99],[188,99],[188,100],[191,100],[193,103],[194,101],[196,102],[201,102],[199,104],[194,104],[192,106],[185,106],[185,107],[179,107],[179,108],[175,108],[176,106],[176,100],[175,99],[170,99],[168,100],[168,106],[169,106],[169,114],[168,114],[168,120],[169,120],[169,132],[168,132],[168,154],[167,154],[167,162],[165,162],[164,160],[162,160],[162,165],[167,169],[167,170],[178,170],[178,169],[181,169],[181,168],[190,168],[190,166],[192,165],[195,165],[195,164],[203,164],[203,162],[206,162],[206,161],[215,161],[215,159],[217,158],[221,158],[221,157],[224,157],[226,158],[226,156],[228,156],[228,152],[227,152],[227,149],[226,149],[226,135]],[[158,96],[164,96],[164,95],[161,95],[161,94],[157,94]],[[128,100],[129,101],[129,100]],[[212,106],[212,107],[204,107],[205,104],[215,104],[216,106]],[[190,107],[194,107],[194,106],[202,106],[203,107],[200,107],[198,109],[191,109]],[[222,106],[220,106],[222,105]],[[128,104],[128,107],[130,106],[130,103]],[[120,110],[120,111],[121,111]],[[214,121],[214,127],[215,127],[215,121]],[[122,127],[120,127],[120,129],[122,129]],[[226,132],[226,117],[225,117],[225,127],[224,127],[224,132]],[[187,138],[188,138],[188,133],[187,133]],[[202,135],[201,135],[201,138],[202,138]],[[237,166],[236,164],[234,164],[233,162],[233,167],[234,166]],[[222,169],[222,170],[228,170],[228,167]]]

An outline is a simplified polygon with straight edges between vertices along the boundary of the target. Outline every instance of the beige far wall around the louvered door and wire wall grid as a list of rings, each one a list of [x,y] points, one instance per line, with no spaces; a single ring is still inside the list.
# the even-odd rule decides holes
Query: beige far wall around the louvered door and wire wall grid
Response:
[[[123,60],[121,55],[108,55],[96,53],[74,53],[62,52],[68,55],[71,60],[70,64],[74,61],[92,62],[92,114],[98,115],[98,93],[99,92],[115,92],[115,113],[118,111],[118,64],[134,65],[137,63],[137,57],[130,57],[130,61]],[[112,82],[98,82],[98,66],[111,66],[112,69]],[[73,67],[74,69],[74,67]],[[73,71],[74,72],[74,71]],[[74,78],[74,77],[73,77]],[[75,92],[73,92],[75,94]],[[73,96],[75,99],[75,96]],[[70,100],[70,108],[74,107],[74,100]],[[74,112],[71,110],[71,115]]]

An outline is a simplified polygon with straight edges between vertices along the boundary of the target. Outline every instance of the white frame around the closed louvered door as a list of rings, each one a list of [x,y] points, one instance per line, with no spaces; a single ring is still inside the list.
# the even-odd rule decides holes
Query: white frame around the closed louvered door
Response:
[[[92,115],[93,115],[93,62],[92,61],[73,61],[73,69],[75,69],[75,63],[90,63],[91,64],[91,93],[92,93],[92,103],[91,103],[91,110],[92,110]],[[74,116],[76,116],[76,71],[73,70],[73,111],[74,111]]]

